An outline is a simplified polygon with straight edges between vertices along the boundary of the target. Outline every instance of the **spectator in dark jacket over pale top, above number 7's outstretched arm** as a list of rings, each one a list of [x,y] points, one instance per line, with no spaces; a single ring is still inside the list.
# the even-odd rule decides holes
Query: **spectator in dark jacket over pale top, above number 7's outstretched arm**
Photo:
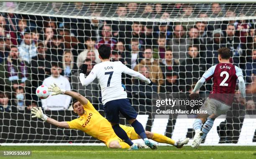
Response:
[[[139,51],[139,49],[141,48],[141,45],[139,44],[138,39],[136,38],[132,39],[130,46],[131,46],[130,47],[131,51],[126,51],[124,58],[128,67],[133,69],[141,61],[141,57],[143,53]]]

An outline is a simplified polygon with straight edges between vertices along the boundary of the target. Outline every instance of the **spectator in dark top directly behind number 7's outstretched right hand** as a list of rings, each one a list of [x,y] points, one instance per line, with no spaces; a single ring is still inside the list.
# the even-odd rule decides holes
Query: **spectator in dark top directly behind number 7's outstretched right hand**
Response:
[[[150,68],[148,66],[138,66],[138,71],[146,78],[150,78]],[[128,91],[130,91],[128,87]],[[132,99],[133,105],[137,105],[137,111],[151,111],[151,98],[152,93],[157,93],[157,85],[153,81],[148,85],[138,79],[133,80],[132,85]],[[135,107],[136,108],[136,107]]]

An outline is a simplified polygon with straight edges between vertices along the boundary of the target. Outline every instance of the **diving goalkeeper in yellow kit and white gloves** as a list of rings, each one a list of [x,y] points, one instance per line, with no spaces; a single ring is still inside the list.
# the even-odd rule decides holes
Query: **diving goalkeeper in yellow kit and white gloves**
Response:
[[[72,121],[56,121],[46,116],[41,107],[37,109],[33,107],[31,109],[31,113],[34,114],[32,118],[41,118],[44,121],[53,124],[58,127],[66,128],[66,129],[77,129],[84,131],[86,134],[102,141],[104,144],[108,146],[108,148],[122,148],[128,149],[130,146],[122,141],[113,131],[110,122],[105,119],[100,113],[92,106],[90,101],[87,100],[84,96],[79,93],[73,91],[66,91],[60,89],[55,83],[51,84],[49,87],[49,91],[53,92],[51,95],[65,94],[75,98],[76,101],[72,103],[74,112],[79,115],[79,118],[74,119]],[[131,140],[140,139],[140,136],[136,134],[133,127],[120,125],[125,132],[128,134]],[[166,137],[161,134],[152,133],[146,131],[146,135],[148,139],[152,139],[156,142],[172,144],[177,148],[181,148],[184,144],[187,144],[189,138],[184,139],[183,141],[174,141],[169,137]],[[137,144],[139,148],[143,148],[143,145]]]

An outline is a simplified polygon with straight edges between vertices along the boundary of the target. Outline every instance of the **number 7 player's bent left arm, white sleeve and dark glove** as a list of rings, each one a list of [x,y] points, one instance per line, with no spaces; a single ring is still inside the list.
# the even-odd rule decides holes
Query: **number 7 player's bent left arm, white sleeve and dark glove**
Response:
[[[84,74],[86,72],[87,72],[87,65],[83,64],[82,69],[81,69],[81,73],[79,74],[79,80],[80,80],[80,82],[82,83],[83,86],[88,86],[96,78],[96,68],[95,68],[95,66],[94,66],[94,68],[92,68],[92,71],[90,72],[90,74],[85,78]]]

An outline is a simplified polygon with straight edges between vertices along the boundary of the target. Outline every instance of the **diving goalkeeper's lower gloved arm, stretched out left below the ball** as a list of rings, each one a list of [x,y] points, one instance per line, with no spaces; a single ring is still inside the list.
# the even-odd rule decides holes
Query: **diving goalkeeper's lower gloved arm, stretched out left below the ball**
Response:
[[[36,107],[32,107],[31,108],[31,114],[34,114],[32,116],[32,118],[41,118],[42,120],[46,121],[49,124],[52,124],[52,125],[55,125],[55,126],[58,126],[58,127],[61,127],[61,128],[69,129],[69,124],[66,121],[59,122],[59,121],[56,121],[54,119],[51,119],[50,117],[46,116],[43,113],[41,107],[39,107],[39,109],[36,108]]]

